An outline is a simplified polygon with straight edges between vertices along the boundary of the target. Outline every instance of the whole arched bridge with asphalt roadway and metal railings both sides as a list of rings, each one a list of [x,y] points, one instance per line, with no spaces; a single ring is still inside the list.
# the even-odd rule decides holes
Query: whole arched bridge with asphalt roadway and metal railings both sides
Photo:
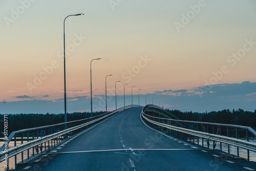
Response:
[[[250,127],[184,121],[156,105],[129,105],[13,132],[0,160],[7,170],[256,170],[250,137],[256,137]]]

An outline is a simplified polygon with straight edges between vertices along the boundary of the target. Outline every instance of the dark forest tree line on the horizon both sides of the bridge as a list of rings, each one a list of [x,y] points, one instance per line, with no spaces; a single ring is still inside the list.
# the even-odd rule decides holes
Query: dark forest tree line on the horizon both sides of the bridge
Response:
[[[236,124],[250,126],[256,129],[256,110],[254,112],[239,110],[222,110],[207,113],[181,112],[179,110],[168,110],[181,120],[215,122],[225,124]],[[93,116],[104,112],[94,112]],[[4,132],[4,115],[0,114],[0,132]],[[90,112],[74,112],[67,114],[67,121],[85,119],[91,117]],[[64,114],[9,114],[8,115],[8,134],[13,131],[29,129],[64,122]]]

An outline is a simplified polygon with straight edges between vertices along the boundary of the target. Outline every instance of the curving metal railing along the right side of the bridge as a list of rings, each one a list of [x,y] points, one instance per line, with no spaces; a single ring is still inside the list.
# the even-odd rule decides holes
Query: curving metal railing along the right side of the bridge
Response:
[[[153,107],[151,105],[151,107]],[[154,106],[159,108],[159,106]],[[237,147],[237,156],[240,157],[239,148],[247,150],[247,160],[250,160],[250,151],[256,152],[256,143],[249,142],[250,139],[256,139],[256,132],[248,126],[221,124],[221,123],[210,123],[210,122],[197,122],[197,121],[186,121],[169,119],[164,116],[160,116],[154,112],[148,112],[146,109],[148,106],[144,106],[141,115],[142,118],[151,126],[164,131],[170,135],[174,135],[178,138],[191,140],[199,144],[199,138],[204,146],[206,141],[207,147],[212,142],[212,148],[215,149],[217,142],[222,151],[222,146],[227,144],[227,151],[230,154],[230,145]]]

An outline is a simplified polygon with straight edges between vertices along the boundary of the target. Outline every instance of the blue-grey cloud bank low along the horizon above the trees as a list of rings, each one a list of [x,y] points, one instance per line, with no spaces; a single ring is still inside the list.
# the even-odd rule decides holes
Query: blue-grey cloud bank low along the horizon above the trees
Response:
[[[140,104],[148,103],[161,104],[164,108],[180,111],[219,111],[223,109],[255,110],[256,103],[256,82],[245,81],[242,83],[224,83],[212,85],[208,91],[202,91],[207,86],[191,89],[156,91],[154,94],[140,95]],[[38,97],[47,96],[39,95]],[[97,111],[105,110],[105,103],[101,95],[93,96],[93,105]],[[64,99],[38,100],[28,95],[17,96],[21,101],[0,103],[3,113],[31,113],[31,112],[63,112]],[[154,100],[153,100],[154,97]],[[31,98],[31,99],[29,99]],[[108,109],[115,109],[115,96],[108,96]],[[123,106],[123,96],[117,97],[117,106]],[[29,100],[28,100],[29,99]],[[104,99],[104,97],[103,97]],[[125,105],[131,104],[131,95],[125,95]],[[91,111],[91,96],[67,97],[68,111]],[[138,104],[138,96],[133,97],[133,104]],[[45,108],[45,106],[48,106]],[[95,111],[96,111],[95,110]]]

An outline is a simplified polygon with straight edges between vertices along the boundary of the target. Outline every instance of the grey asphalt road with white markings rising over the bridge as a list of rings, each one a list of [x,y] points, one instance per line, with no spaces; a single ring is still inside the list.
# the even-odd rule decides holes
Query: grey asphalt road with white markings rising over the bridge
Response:
[[[231,160],[147,127],[141,109],[120,112],[20,170],[256,170],[255,162]]]

